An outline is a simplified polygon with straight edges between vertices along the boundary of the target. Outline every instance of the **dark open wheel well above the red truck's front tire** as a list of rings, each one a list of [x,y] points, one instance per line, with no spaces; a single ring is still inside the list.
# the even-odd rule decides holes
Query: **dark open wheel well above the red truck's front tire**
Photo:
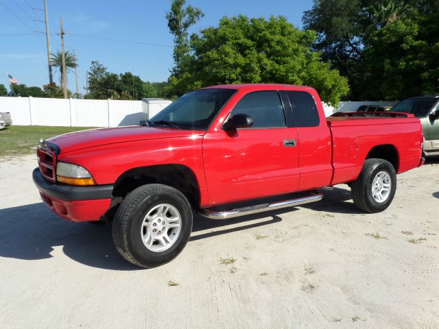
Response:
[[[191,169],[182,164],[161,164],[139,167],[126,171],[116,181],[113,197],[126,197],[135,188],[145,184],[164,184],[180,191],[187,197],[191,206],[200,206],[200,189]]]

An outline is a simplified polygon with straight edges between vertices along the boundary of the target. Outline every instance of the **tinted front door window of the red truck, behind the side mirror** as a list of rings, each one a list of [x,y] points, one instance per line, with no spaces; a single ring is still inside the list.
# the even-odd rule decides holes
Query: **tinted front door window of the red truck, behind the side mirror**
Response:
[[[235,105],[230,115],[248,114],[252,128],[286,127],[281,99],[276,90],[248,93]]]

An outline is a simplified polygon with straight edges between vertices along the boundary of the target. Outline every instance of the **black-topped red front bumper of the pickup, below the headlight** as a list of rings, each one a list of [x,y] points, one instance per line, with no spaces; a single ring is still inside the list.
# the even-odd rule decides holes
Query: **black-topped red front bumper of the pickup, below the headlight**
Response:
[[[110,208],[112,185],[51,183],[43,178],[38,168],[34,169],[32,178],[46,206],[69,221],[97,221]]]

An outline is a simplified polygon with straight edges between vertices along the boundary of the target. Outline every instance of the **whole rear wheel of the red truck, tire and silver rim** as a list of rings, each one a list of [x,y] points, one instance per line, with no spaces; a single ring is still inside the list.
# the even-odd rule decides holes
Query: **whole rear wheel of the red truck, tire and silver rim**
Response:
[[[395,169],[383,159],[366,159],[361,173],[351,186],[355,206],[367,212],[381,212],[388,208],[395,192]]]

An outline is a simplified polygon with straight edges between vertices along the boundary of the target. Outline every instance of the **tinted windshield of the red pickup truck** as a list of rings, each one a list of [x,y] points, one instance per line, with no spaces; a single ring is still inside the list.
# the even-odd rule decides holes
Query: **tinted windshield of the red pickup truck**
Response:
[[[201,89],[183,95],[150,119],[152,123],[170,121],[180,129],[207,130],[235,89]]]

